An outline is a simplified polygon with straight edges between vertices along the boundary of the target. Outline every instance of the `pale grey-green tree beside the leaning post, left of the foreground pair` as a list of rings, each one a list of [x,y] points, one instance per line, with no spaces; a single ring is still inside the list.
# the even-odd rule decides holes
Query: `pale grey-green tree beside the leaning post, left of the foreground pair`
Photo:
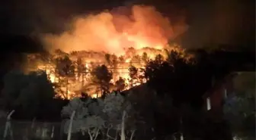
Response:
[[[96,100],[97,101],[97,100]],[[93,99],[88,98],[82,101],[80,98],[74,98],[69,104],[62,109],[62,116],[71,117],[75,111],[75,117],[72,123],[72,133],[85,132],[90,136],[90,140],[95,140],[103,129],[104,120],[101,118],[102,102],[94,102]],[[64,126],[64,132],[68,133],[69,122],[67,120]]]

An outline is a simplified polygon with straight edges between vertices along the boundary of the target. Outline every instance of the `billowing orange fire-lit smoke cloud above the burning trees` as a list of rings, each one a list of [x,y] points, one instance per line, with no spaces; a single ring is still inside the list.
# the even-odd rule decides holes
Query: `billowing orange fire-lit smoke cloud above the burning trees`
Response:
[[[179,25],[172,25],[171,20],[154,7],[134,5],[132,8],[117,8],[76,17],[71,28],[58,36],[43,36],[48,50],[123,54],[125,48],[130,47],[161,49],[169,39],[184,33],[187,25],[181,22]]]

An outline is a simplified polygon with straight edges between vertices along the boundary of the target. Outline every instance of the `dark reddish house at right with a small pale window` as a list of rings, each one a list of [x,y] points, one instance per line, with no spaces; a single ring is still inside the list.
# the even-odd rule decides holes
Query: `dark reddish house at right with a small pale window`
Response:
[[[224,101],[235,95],[236,90],[248,89],[251,81],[253,82],[251,86],[254,87],[255,79],[256,73],[254,71],[239,71],[229,73],[225,78],[213,82],[212,88],[203,95],[203,110],[211,119],[222,120]]]

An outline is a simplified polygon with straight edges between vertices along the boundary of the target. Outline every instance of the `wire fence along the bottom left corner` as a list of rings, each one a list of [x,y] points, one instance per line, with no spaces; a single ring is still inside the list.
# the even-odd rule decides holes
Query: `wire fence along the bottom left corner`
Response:
[[[0,140],[62,140],[66,139],[62,123],[11,121],[11,133],[4,138],[5,120],[0,120]]]

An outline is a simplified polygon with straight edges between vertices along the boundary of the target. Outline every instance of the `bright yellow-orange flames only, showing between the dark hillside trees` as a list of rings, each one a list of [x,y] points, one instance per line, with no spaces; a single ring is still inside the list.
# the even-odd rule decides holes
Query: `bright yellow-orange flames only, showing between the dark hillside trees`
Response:
[[[174,49],[174,48],[171,48],[171,49]],[[98,66],[101,64],[105,64],[109,68],[109,70],[112,71],[113,79],[111,79],[110,81],[112,84],[117,82],[119,77],[122,77],[124,79],[126,86],[123,90],[130,89],[133,86],[139,86],[143,82],[146,82],[146,79],[142,79],[142,80],[134,79],[133,82],[130,82],[131,77],[129,74],[129,67],[131,65],[136,67],[138,70],[140,70],[141,68],[145,68],[145,62],[141,60],[143,52],[147,53],[149,59],[155,58],[157,54],[162,54],[162,56],[166,58],[165,51],[163,50],[158,50],[155,48],[142,48],[139,50],[133,50],[133,54],[126,52],[126,54],[123,55],[123,59],[124,59],[123,62],[118,62],[117,67],[115,67],[114,69],[111,69],[110,64],[108,64],[104,58],[105,54],[101,54],[99,52],[94,52],[94,51],[78,51],[78,54],[69,54],[69,58],[71,58],[72,63],[75,64],[77,59],[82,56],[83,58],[82,63],[85,64],[85,67],[87,68],[87,74],[86,76],[82,77],[82,76],[78,76],[78,73],[75,73],[75,76],[69,77],[69,80],[68,80],[69,82],[68,83],[65,82],[64,85],[61,85],[61,81],[67,77],[59,76],[56,73],[56,64],[53,61],[43,62],[43,61],[38,61],[36,58],[28,57],[28,58],[33,58],[33,60],[36,59],[37,61],[36,66],[33,69],[31,68],[28,68],[28,69],[30,69],[29,71],[45,70],[50,82],[58,84],[60,86],[59,89],[61,89],[62,92],[66,91],[68,93],[66,95],[66,92],[65,93],[59,92],[57,90],[58,88],[54,87],[57,93],[56,96],[60,98],[71,99],[71,98],[74,98],[75,96],[79,96],[79,93],[83,91],[84,86],[88,86],[88,83],[91,82],[90,81],[91,75],[89,71],[91,71],[95,66]],[[34,55],[34,54],[30,54],[30,55]],[[53,54],[53,56],[54,56],[53,58],[56,58],[56,54]],[[139,57],[139,58],[138,60],[134,60],[134,57]],[[32,64],[30,63],[30,61],[31,60],[28,61],[28,64]],[[143,74],[142,72],[138,71],[138,77],[142,74]],[[82,82],[84,82],[84,85],[82,85]],[[97,94],[97,90],[95,88],[97,87],[94,86],[92,88],[93,90],[86,91],[86,92],[89,95],[91,95],[92,98],[101,97],[101,94]]]

